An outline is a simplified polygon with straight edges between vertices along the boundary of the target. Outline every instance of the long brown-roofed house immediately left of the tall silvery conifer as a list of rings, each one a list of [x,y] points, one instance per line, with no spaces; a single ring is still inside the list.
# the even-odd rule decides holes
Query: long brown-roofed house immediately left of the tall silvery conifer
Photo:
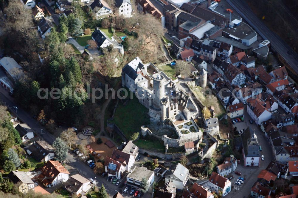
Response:
[[[47,162],[54,158],[54,148],[44,140],[35,141],[30,147],[27,148],[26,152],[37,161]]]

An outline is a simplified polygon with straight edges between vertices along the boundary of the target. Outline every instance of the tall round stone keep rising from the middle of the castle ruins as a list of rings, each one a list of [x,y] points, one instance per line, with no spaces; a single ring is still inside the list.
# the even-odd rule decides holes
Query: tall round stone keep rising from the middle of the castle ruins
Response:
[[[155,74],[153,77],[153,106],[160,109],[160,100],[164,98],[164,77],[160,74]]]

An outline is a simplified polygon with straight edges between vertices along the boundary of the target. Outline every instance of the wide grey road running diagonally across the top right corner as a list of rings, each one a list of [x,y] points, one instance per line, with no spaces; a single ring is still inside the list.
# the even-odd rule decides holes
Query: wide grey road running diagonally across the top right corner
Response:
[[[227,0],[227,2],[237,11],[264,39],[271,42],[271,46],[285,59],[286,62],[298,74],[298,54],[280,38],[252,12],[245,1]],[[288,54],[288,51],[291,54]]]

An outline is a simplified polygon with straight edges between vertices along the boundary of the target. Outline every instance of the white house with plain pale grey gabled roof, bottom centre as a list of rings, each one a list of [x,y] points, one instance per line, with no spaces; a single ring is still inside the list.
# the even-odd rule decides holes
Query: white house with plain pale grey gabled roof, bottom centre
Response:
[[[178,189],[183,189],[189,179],[190,173],[182,164],[174,164],[165,175],[165,183],[173,182]]]

